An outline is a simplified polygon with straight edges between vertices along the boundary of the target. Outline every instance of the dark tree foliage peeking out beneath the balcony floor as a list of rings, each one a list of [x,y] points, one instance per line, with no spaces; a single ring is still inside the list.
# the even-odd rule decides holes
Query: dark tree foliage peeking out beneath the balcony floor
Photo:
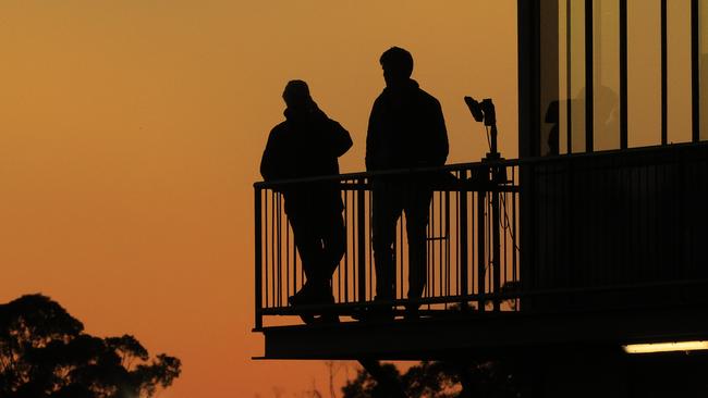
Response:
[[[426,398],[512,398],[518,396],[513,370],[502,362],[423,361],[404,374],[390,363],[382,371],[396,377],[407,397]],[[343,398],[387,397],[382,388],[365,370],[342,388]]]

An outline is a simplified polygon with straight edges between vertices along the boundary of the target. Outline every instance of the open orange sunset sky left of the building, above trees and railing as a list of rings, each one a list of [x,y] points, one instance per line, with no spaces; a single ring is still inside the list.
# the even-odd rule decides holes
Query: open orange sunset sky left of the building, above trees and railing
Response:
[[[0,302],[44,293],[89,333],[183,361],[161,397],[298,396],[322,362],[256,362],[253,189],[292,78],[352,134],[391,46],[442,103],[449,162],[516,156],[515,0],[0,1]]]

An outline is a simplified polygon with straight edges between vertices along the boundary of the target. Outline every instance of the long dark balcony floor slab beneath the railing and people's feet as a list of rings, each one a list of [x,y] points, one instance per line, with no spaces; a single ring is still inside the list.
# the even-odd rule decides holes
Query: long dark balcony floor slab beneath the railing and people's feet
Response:
[[[416,321],[270,326],[261,359],[495,359],[573,347],[708,339],[708,306],[573,312],[471,312]]]

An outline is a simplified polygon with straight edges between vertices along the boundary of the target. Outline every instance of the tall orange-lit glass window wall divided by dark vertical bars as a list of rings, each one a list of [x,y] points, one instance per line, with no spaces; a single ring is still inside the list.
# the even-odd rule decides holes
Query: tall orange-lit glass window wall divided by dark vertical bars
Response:
[[[700,139],[708,139],[708,0],[698,1]],[[596,151],[621,146],[620,2],[591,2],[590,117]],[[627,146],[661,145],[661,0],[626,3]],[[585,152],[586,0],[542,0],[540,4],[539,153]],[[667,1],[666,121],[670,144],[692,139],[691,4],[692,0]]]

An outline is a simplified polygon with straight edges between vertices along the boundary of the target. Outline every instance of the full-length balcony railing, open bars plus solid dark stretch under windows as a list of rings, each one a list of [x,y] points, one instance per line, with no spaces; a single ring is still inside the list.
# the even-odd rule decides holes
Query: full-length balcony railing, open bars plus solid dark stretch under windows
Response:
[[[423,312],[606,310],[708,304],[708,144],[255,184],[256,327],[297,315],[304,273],[279,190],[337,182],[346,250],[340,315],[375,306],[371,179],[434,178]],[[522,231],[523,228],[523,231]],[[408,302],[402,216],[395,297]],[[522,250],[523,249],[523,250]]]

